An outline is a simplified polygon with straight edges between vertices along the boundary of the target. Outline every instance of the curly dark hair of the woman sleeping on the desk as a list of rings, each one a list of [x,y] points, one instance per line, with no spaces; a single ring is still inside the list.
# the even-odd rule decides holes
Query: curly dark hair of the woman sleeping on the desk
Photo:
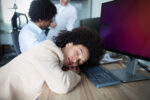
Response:
[[[99,61],[104,54],[103,43],[99,34],[95,30],[87,27],[79,27],[72,31],[61,31],[58,36],[54,37],[54,42],[61,48],[65,47],[69,42],[86,46],[89,50],[90,57],[86,63],[81,65],[82,67],[99,65]]]

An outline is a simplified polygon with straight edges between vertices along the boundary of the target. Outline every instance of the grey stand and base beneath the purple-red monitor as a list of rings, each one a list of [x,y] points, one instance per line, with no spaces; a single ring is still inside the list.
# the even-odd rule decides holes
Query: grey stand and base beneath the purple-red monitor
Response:
[[[126,68],[110,70],[110,72],[114,74],[116,77],[118,77],[122,82],[132,82],[132,81],[150,79],[150,77],[136,72],[137,65],[138,65],[138,59],[128,57]]]

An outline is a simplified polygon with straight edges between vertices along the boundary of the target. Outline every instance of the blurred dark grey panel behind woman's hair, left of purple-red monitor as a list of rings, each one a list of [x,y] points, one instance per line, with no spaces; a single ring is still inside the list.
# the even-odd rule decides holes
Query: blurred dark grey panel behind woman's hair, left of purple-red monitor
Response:
[[[86,26],[99,32],[100,17],[80,20],[80,26]]]

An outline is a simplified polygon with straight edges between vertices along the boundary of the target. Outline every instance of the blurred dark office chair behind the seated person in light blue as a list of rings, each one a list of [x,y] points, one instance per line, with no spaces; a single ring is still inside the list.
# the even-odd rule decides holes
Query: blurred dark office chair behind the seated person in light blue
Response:
[[[20,47],[19,47],[19,41],[18,41],[18,36],[20,33],[21,28],[23,27],[23,22],[21,21],[21,16],[24,16],[26,19],[26,24],[28,23],[28,18],[25,14],[23,13],[18,13],[18,12],[14,12],[14,15],[11,19],[11,25],[12,25],[12,32],[11,32],[11,37],[12,37],[12,41],[13,41],[13,46],[15,49],[15,52],[17,55],[19,55],[21,53],[20,51]]]

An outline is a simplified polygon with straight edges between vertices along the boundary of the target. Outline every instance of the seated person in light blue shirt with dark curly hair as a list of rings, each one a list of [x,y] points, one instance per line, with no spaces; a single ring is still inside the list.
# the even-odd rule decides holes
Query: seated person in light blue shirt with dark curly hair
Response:
[[[31,2],[29,9],[31,21],[19,33],[19,46],[22,53],[46,40],[45,29],[49,27],[56,12],[56,7],[50,0]]]

